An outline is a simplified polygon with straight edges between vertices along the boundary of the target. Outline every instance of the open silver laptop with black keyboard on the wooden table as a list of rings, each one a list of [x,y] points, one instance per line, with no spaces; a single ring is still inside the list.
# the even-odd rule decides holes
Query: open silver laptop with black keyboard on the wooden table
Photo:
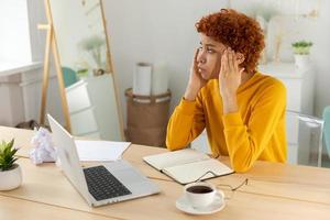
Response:
[[[65,176],[89,206],[98,207],[160,193],[156,184],[123,160],[81,167],[75,139],[47,114]]]

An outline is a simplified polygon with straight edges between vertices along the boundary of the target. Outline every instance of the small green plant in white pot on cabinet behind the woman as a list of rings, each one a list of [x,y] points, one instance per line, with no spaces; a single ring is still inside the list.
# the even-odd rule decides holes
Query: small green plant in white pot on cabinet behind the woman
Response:
[[[298,68],[306,68],[309,64],[309,51],[311,42],[298,41],[292,44],[295,55],[295,64]]]

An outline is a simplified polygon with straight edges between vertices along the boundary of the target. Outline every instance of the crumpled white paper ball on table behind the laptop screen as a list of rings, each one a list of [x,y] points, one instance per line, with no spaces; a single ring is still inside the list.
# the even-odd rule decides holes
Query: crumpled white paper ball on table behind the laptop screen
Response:
[[[41,127],[31,139],[31,144],[34,146],[30,152],[30,158],[33,164],[56,161],[56,150],[52,142],[52,135],[47,129]]]

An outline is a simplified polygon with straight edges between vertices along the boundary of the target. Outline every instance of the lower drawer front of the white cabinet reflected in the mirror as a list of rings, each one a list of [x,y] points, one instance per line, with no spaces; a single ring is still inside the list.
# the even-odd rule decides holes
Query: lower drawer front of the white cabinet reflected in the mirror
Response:
[[[84,135],[98,131],[94,108],[70,114],[74,135]]]

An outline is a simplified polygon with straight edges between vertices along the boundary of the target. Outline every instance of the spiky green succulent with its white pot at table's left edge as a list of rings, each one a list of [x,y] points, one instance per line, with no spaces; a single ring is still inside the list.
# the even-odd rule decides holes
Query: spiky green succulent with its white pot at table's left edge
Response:
[[[0,144],[0,190],[11,190],[22,184],[22,170],[15,163],[18,148],[13,147],[14,140]]]

